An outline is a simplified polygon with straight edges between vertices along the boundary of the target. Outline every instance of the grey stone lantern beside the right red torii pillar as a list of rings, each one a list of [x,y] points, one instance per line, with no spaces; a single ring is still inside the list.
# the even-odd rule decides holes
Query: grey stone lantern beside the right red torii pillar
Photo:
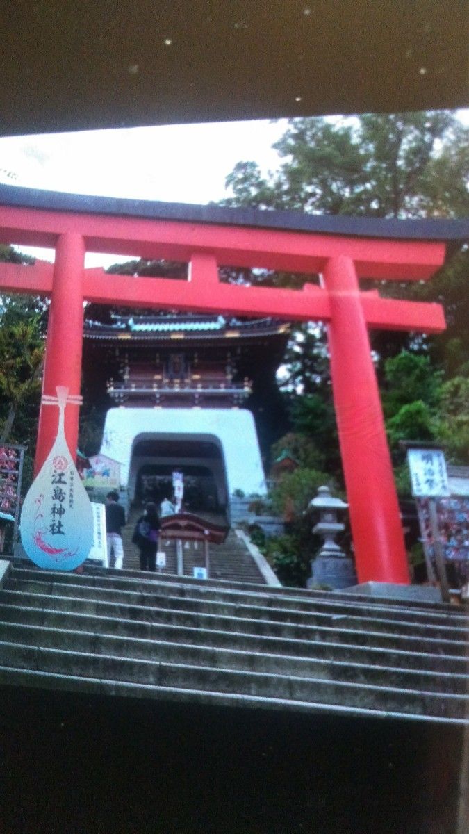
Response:
[[[356,585],[356,572],[353,560],[345,555],[335,541],[335,536],[345,530],[345,525],[338,520],[338,515],[347,510],[348,504],[340,498],[330,495],[327,486],[320,486],[317,495],[310,501],[309,509],[319,511],[319,521],[313,527],[324,539],[315,560],[311,560],[311,575],[306,580],[308,588],[315,585],[328,585],[330,588],[348,588]]]

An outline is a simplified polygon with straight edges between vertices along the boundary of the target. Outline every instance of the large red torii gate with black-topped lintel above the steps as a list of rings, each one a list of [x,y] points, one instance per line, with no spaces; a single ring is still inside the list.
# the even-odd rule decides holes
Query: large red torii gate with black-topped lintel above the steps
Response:
[[[375,291],[362,292],[359,279],[428,279],[443,263],[444,240],[451,234],[428,240],[427,227],[425,234],[420,227],[419,239],[415,222],[408,221],[380,225],[351,218],[305,219],[301,214],[135,203],[3,186],[0,239],[53,247],[56,257],[53,265],[1,264],[0,286],[51,297],[43,374],[43,394],[48,395],[55,394],[57,385],[67,385],[70,394],[80,392],[84,299],[325,321],[358,579],[406,584],[406,550],[368,328],[437,333],[445,321],[439,304],[381,299]],[[386,232],[390,236],[383,239]],[[409,232],[413,239],[405,239]],[[189,279],[84,269],[85,251],[185,261]],[[302,290],[221,284],[219,265],[320,273],[323,284],[305,284]],[[78,405],[68,406],[65,431],[71,450],[77,448],[78,413]],[[51,449],[56,423],[52,409],[41,408],[37,470]]]

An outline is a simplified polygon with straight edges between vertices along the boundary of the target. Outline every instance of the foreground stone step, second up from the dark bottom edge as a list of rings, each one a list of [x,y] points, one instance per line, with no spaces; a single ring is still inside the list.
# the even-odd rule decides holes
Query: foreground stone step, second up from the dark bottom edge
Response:
[[[398,689],[464,695],[466,676],[454,672],[422,671],[351,661],[325,661],[315,657],[292,656],[234,648],[194,646],[184,642],[154,641],[129,636],[98,634],[94,631],[58,631],[43,625],[24,625],[0,621],[0,656],[11,656],[9,646],[36,646],[37,649],[59,649],[88,655],[103,655],[154,663],[177,663],[189,666],[210,666],[214,669],[265,672],[316,680],[360,683],[363,686],[386,686]],[[3,655],[3,646],[7,646]],[[4,661],[6,665],[7,661]]]

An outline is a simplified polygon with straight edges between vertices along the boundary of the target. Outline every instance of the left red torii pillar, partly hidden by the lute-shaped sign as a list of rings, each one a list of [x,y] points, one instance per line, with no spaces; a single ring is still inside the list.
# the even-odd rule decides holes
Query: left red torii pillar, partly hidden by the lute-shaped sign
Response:
[[[83,269],[85,245],[80,234],[61,234],[55,249],[53,291],[48,319],[48,340],[43,374],[43,394],[56,396],[56,386],[66,385],[79,394],[83,350]],[[72,455],[78,444],[79,405],[65,410],[65,437]],[[41,469],[57,435],[55,409],[39,413],[35,474]]]

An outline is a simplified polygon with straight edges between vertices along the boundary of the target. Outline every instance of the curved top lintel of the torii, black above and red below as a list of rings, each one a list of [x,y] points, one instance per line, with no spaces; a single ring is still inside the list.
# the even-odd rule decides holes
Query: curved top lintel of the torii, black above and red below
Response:
[[[427,279],[446,244],[468,235],[458,220],[394,220],[197,206],[0,185],[4,243],[52,246],[67,232],[85,249],[145,259],[189,260],[212,251],[218,264],[319,272],[348,255],[361,278]]]

